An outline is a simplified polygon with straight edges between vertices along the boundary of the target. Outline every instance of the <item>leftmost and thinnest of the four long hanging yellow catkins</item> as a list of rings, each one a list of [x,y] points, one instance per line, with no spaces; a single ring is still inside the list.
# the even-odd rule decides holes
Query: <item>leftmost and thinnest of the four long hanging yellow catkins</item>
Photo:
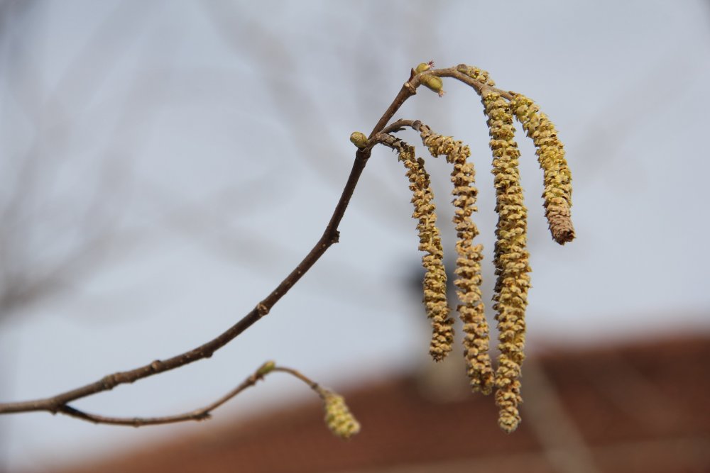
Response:
[[[407,168],[409,188],[414,194],[412,216],[418,221],[419,250],[426,252],[426,255],[422,256],[422,266],[425,269],[424,305],[427,317],[432,321],[432,340],[429,353],[435,361],[439,362],[452,350],[454,321],[449,317],[446,294],[447,276],[443,262],[444,251],[439,228],[436,226],[434,194],[432,194],[430,187],[429,174],[424,169],[424,160],[415,157],[414,147],[402,145],[399,159]]]

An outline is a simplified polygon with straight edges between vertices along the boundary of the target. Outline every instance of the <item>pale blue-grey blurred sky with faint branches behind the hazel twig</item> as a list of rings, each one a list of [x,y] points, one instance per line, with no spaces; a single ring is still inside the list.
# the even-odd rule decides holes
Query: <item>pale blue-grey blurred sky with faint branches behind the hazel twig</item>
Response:
[[[430,59],[477,65],[532,97],[566,145],[577,240],[559,247],[534,149],[518,137],[530,350],[710,330],[710,254],[700,245],[710,230],[701,198],[709,6],[1,2],[0,257],[12,304],[1,308],[0,400],[53,395],[175,355],[251,310],[320,237],[354,157],[350,133],[368,133],[410,67]],[[471,145],[490,265],[484,116],[471,90],[444,88],[441,99],[422,88],[395,118]],[[429,162],[451,255],[448,169]],[[376,150],[340,243],[268,317],[210,360],[75,405],[107,415],[184,411],[268,359],[339,387],[425,362],[408,194],[395,155]],[[274,377],[215,422],[306,391]],[[42,471],[201,425],[4,416],[0,470]]]

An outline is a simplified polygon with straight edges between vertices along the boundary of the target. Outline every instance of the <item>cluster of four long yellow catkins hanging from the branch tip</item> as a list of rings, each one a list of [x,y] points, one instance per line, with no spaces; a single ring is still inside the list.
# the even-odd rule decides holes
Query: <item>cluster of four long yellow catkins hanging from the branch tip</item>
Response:
[[[415,72],[423,72],[430,67],[430,63],[422,63]],[[525,307],[530,289],[529,253],[526,249],[527,209],[523,204],[523,188],[518,171],[520,152],[515,143],[513,118],[522,124],[537,148],[538,161],[544,172],[545,191],[542,196],[545,216],[552,238],[560,244],[574,238],[569,213],[572,206],[572,179],[555,126],[544,113],[540,113],[534,102],[520,94],[501,94],[501,91],[493,87],[495,84],[488,73],[481,69],[467,65],[459,65],[456,69],[479,83],[477,90],[484,104],[491,137],[489,145],[493,152],[492,172],[498,213],[493,309],[498,323],[499,355],[495,369],[488,353],[489,329],[481,296],[483,247],[474,244],[479,231],[471,220],[471,214],[476,211],[477,190],[474,187],[474,165],[468,160],[469,147],[451,137],[433,133],[420,121],[408,124],[420,133],[423,144],[432,156],[445,156],[453,166],[453,220],[458,237],[454,286],[459,299],[457,310],[463,322],[466,372],[474,391],[491,394],[495,390],[499,408],[498,423],[506,432],[512,432],[520,423],[520,369],[525,358]],[[441,95],[440,79],[439,82],[430,82],[422,81]],[[377,140],[397,150],[400,161],[407,169],[410,189],[413,191],[413,217],[418,222],[419,249],[425,252],[422,257],[425,268],[424,304],[433,329],[430,355],[435,361],[440,361],[452,350],[454,331],[453,319],[449,317],[447,277],[442,262],[443,250],[436,226],[429,175],[425,171],[424,160],[415,156],[413,146],[384,133],[377,135]],[[356,143],[356,140],[353,142]]]

